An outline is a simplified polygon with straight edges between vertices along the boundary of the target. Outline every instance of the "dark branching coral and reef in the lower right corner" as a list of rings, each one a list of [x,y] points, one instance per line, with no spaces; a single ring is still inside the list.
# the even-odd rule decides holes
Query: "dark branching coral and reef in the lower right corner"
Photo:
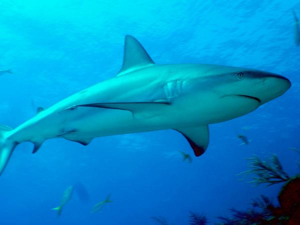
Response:
[[[300,150],[296,149],[300,154]],[[231,208],[229,217],[218,216],[220,222],[216,225],[294,225],[300,224],[300,174],[294,177],[283,170],[276,155],[272,155],[269,161],[262,161],[258,156],[248,158],[250,169],[240,174],[254,174],[250,183],[266,183],[268,186],[285,182],[279,194],[280,206],[275,206],[265,196],[254,198],[251,208],[237,210]],[[157,223],[167,225],[163,217],[152,217]],[[205,216],[190,212],[189,222],[191,225],[208,224]]]

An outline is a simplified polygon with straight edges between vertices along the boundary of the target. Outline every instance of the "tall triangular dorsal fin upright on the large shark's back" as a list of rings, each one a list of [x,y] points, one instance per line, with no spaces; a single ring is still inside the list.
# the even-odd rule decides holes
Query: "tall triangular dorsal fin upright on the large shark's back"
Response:
[[[154,64],[143,46],[131,35],[125,36],[123,65],[117,75]]]

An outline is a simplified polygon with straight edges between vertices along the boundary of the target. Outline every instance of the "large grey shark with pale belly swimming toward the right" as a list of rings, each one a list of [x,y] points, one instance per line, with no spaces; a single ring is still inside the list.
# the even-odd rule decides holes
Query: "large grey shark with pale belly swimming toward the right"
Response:
[[[49,138],[87,145],[100,136],[173,129],[199,156],[208,146],[208,124],[245,115],[290,86],[284,76],[249,68],[156,64],[126,35],[116,76],[39,108],[14,129],[0,126],[0,173],[19,143],[32,142],[35,153]]]

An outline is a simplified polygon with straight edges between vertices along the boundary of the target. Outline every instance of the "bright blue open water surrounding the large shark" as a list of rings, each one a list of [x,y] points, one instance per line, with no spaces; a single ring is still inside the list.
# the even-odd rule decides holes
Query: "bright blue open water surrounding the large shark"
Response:
[[[0,224],[188,224],[189,211],[211,224],[228,208],[245,209],[265,194],[276,203],[281,185],[257,187],[236,174],[246,157],[278,155],[290,174],[299,170],[300,47],[291,9],[298,0],[0,0],[0,123],[16,127],[36,107],[115,76],[125,34],[135,36],[156,63],[213,63],[288,77],[292,87],[255,111],[210,125],[206,152],[194,157],[176,131],[95,138],[89,145],[49,139],[36,154],[17,146],[0,177]],[[246,127],[243,129],[242,127]],[[242,145],[243,133],[251,140]],[[182,162],[179,150],[192,155]],[[240,180],[245,178],[245,180]],[[80,181],[61,216],[63,191]],[[99,213],[91,207],[111,193]]]

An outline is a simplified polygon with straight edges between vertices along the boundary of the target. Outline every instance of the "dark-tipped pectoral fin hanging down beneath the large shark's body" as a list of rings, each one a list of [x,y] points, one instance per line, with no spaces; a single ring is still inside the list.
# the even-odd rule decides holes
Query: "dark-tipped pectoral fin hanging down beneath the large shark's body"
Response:
[[[193,149],[195,156],[200,156],[204,153],[209,141],[208,125],[184,127],[175,130],[180,132],[186,138]]]

